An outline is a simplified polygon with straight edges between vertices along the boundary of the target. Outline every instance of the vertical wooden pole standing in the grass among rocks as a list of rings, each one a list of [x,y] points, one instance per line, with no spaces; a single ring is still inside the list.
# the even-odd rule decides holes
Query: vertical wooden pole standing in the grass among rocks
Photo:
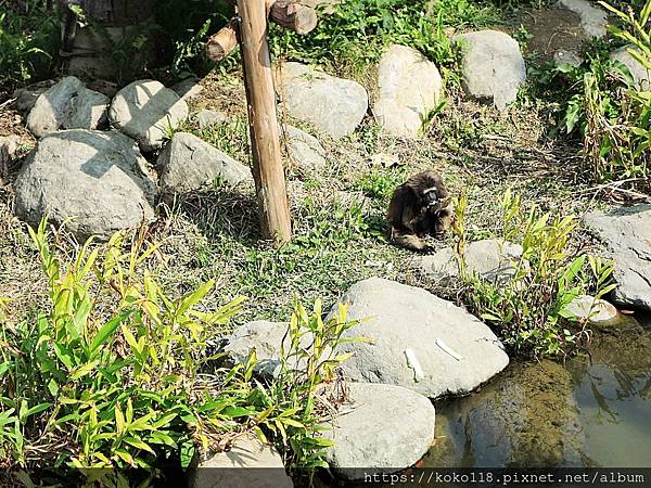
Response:
[[[253,177],[263,234],[280,245],[292,237],[292,226],[280,155],[266,1],[238,0],[238,13],[241,20],[240,43],[248,103]]]

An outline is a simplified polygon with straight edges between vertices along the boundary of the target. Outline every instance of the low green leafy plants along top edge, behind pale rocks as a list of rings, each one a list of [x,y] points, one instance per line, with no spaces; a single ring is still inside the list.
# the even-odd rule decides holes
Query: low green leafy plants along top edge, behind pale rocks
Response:
[[[447,68],[457,62],[457,50],[444,28],[494,17],[493,9],[469,0],[348,0],[334,5],[308,36],[275,28],[271,40],[276,55],[305,63],[331,60],[336,70],[360,78],[392,42],[418,49]]]

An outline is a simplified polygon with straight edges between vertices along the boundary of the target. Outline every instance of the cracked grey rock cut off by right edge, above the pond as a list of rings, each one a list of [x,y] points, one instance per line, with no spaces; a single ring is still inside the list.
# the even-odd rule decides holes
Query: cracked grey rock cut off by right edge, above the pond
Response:
[[[591,211],[584,224],[615,261],[613,278],[620,286],[613,293],[614,303],[651,310],[651,205]]]

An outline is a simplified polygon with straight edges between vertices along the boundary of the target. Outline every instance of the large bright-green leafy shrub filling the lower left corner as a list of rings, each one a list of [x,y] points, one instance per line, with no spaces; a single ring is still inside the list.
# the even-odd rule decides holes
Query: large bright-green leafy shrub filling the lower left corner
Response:
[[[46,229],[43,221],[30,235],[48,307],[15,326],[0,313],[4,468],[66,483],[89,467],[116,471],[86,476],[124,481],[122,471],[138,467],[153,478],[166,460],[186,467],[196,449],[224,447],[242,431],[276,441],[297,467],[323,464],[330,442],[320,438],[323,406],[314,396],[345,359],[332,352],[353,325],[344,308],[323,322],[319,303],[312,314],[296,304],[286,357],[299,356],[307,367],[290,370],[283,358],[282,381],[263,385],[253,378],[255,350],[233,368],[217,368],[222,354],[205,352],[243,298],[206,311],[201,303],[213,281],[168,297],[152,272],[141,271],[158,249],[142,230],[130,243],[125,233],[101,246],[89,241],[63,259]],[[307,332],[314,343],[299,348]]]

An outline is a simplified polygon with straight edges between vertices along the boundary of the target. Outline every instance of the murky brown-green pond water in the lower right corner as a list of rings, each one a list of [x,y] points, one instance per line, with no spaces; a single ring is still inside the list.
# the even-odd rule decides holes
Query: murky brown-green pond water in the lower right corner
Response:
[[[601,333],[565,367],[514,362],[436,403],[429,467],[651,466],[651,321]]]

